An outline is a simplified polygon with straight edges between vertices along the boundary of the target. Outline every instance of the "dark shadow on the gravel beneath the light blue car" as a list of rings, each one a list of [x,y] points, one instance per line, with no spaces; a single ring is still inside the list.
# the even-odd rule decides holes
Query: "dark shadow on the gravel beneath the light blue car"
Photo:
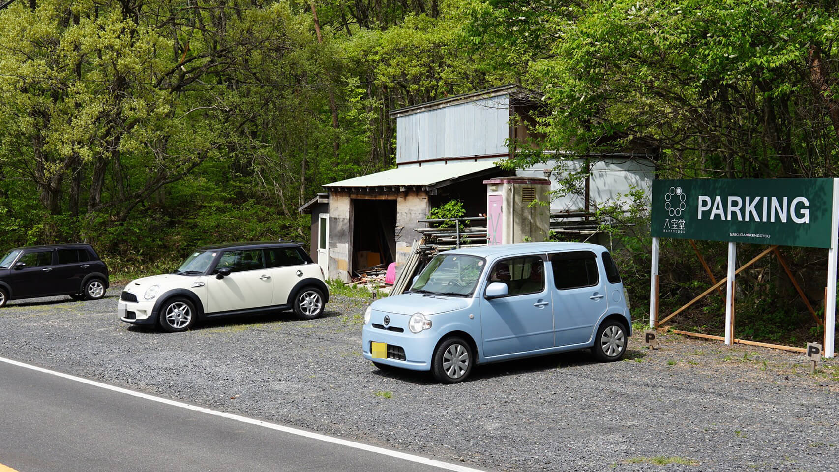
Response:
[[[640,359],[645,355],[647,355],[647,353],[643,350],[628,350],[623,360]],[[530,357],[528,359],[507,360],[504,362],[475,366],[472,370],[472,375],[466,379],[466,382],[489,380],[493,377],[501,376],[515,376],[534,371],[591,366],[599,363],[600,362],[591,356],[591,353],[588,350],[576,350],[572,352],[562,352],[560,354],[541,355],[539,357]],[[427,371],[409,371],[407,369],[398,368],[393,368],[393,370],[380,370],[378,367],[373,365],[370,366],[370,369],[373,374],[378,376],[396,378],[416,385],[429,385],[437,383],[431,376],[430,372]]]

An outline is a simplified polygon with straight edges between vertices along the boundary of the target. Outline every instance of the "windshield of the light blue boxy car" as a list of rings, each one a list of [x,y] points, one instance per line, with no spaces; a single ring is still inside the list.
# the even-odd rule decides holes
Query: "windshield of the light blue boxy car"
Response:
[[[410,292],[468,297],[475,291],[484,263],[482,257],[440,254],[431,259]]]

